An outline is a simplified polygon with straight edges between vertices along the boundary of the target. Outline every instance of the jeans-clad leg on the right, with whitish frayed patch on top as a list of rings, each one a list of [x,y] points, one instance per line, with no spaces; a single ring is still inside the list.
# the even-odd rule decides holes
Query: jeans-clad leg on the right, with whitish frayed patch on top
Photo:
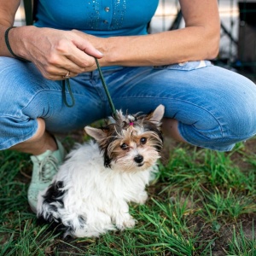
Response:
[[[210,61],[125,68],[109,87],[116,108],[130,113],[165,105],[165,116],[196,146],[230,150],[256,133],[255,84]]]

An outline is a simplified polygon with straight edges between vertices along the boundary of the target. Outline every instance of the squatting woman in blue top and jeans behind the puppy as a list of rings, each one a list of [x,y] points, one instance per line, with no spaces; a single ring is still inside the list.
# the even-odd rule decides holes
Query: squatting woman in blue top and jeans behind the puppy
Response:
[[[217,0],[180,0],[185,27],[156,34],[147,25],[157,0],[39,0],[34,26],[10,28],[19,4],[0,0],[0,149],[32,154],[33,211],[64,157],[53,134],[111,114],[95,58],[116,108],[165,105],[166,136],[226,151],[255,135],[255,84],[208,61],[218,55]],[[62,98],[68,78],[73,108]]]

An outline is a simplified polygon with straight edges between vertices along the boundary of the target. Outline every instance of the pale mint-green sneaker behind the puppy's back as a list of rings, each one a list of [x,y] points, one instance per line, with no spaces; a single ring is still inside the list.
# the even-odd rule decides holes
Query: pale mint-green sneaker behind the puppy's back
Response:
[[[33,170],[32,180],[27,191],[27,200],[35,213],[37,212],[39,191],[43,191],[49,186],[65,157],[65,149],[58,140],[56,143],[57,150],[46,150],[43,154],[31,156]]]

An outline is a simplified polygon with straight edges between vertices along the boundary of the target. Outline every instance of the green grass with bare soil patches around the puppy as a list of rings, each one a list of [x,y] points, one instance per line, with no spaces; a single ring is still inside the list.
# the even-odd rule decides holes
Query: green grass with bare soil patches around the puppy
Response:
[[[176,145],[131,204],[134,229],[63,239],[30,211],[29,155],[0,152],[0,255],[256,255],[256,139],[230,153]],[[64,143],[70,147],[72,139]]]

